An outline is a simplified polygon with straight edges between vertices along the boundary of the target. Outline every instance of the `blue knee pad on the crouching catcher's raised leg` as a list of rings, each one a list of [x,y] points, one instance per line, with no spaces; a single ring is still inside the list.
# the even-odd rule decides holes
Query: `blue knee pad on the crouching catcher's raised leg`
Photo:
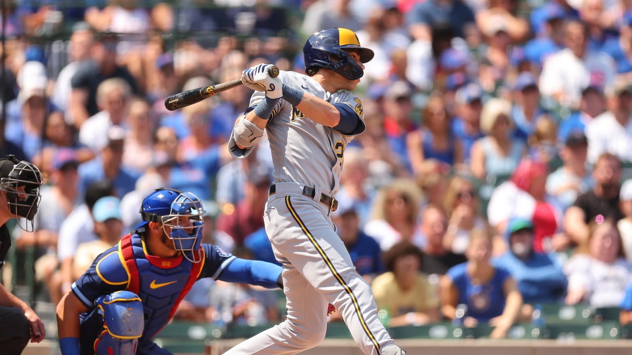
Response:
[[[134,355],[143,335],[145,317],[137,294],[117,291],[94,302],[103,317],[103,330],[94,344],[97,355]]]

